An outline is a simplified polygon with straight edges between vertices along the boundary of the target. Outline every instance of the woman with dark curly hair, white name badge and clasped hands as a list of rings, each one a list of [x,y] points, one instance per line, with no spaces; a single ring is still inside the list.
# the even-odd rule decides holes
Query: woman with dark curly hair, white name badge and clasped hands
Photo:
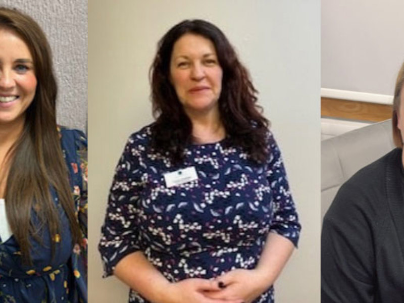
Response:
[[[150,70],[156,121],[116,169],[99,250],[130,302],[273,302],[300,225],[257,91],[215,25],[186,20]]]

